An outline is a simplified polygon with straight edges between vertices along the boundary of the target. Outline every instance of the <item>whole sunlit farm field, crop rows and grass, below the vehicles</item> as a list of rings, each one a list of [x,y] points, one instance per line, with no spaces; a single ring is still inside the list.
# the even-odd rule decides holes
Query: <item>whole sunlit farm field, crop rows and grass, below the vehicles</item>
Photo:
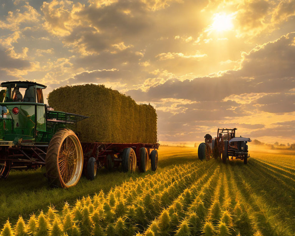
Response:
[[[102,169],[68,190],[50,189],[44,169],[15,171],[0,181],[0,223],[31,235],[295,235],[295,152],[249,153],[224,165],[163,146],[156,172]]]

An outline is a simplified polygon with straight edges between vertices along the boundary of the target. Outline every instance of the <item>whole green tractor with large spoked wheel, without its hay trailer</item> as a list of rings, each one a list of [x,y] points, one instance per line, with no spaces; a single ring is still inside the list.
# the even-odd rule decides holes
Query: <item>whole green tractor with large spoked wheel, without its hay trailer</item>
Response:
[[[1,83],[0,179],[14,169],[46,166],[51,186],[68,188],[78,183],[83,150],[74,132],[88,117],[57,112],[44,104],[46,86],[29,81]]]

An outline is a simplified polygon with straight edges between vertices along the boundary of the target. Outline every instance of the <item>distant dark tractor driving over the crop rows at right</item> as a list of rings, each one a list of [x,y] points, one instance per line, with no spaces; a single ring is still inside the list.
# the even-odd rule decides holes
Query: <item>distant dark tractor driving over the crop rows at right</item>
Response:
[[[251,140],[241,136],[235,137],[236,130],[236,128],[218,128],[217,137],[214,138],[206,134],[204,136],[205,142],[202,142],[198,148],[199,159],[209,160],[212,155],[215,159],[221,158],[223,163],[226,163],[227,159],[234,160],[235,158],[241,159],[244,164],[247,164],[250,157],[247,142],[251,142]]]

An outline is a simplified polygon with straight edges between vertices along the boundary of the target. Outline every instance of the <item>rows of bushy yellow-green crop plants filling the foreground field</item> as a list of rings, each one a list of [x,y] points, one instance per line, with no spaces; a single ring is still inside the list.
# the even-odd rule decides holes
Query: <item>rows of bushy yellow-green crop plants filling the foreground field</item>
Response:
[[[195,153],[184,156],[186,148],[162,148],[170,152],[171,163],[181,161],[181,156],[185,162],[167,165],[167,158],[156,173],[124,181],[107,193],[82,197],[59,211],[49,208],[25,220],[19,217],[13,225],[6,222],[2,232],[294,235],[294,153],[253,152],[244,165],[240,160],[200,161],[189,158],[197,158]]]

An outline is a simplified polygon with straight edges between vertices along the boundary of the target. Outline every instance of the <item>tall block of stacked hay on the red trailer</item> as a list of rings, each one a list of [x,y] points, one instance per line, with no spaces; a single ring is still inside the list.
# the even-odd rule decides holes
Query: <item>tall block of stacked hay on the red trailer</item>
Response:
[[[89,116],[77,122],[81,142],[156,143],[157,114],[153,106],[104,85],[65,86],[48,95],[55,111]]]

